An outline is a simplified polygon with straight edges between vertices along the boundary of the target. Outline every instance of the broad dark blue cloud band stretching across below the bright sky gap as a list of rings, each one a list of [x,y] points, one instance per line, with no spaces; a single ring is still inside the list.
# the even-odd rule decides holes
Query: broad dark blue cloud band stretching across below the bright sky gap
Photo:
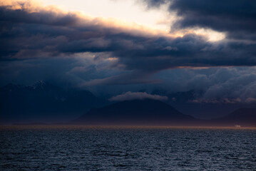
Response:
[[[61,11],[31,12],[26,8],[2,6],[0,12],[1,60],[108,52],[119,58],[128,70],[150,72],[180,66],[256,64],[255,44],[210,43],[195,34],[170,38],[143,34],[143,31],[136,33],[136,30],[106,26],[99,19]]]

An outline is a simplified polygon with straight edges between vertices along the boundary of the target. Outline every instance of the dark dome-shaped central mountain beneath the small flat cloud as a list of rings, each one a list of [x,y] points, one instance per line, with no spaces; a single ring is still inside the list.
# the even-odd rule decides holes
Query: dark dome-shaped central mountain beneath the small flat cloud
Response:
[[[162,101],[151,99],[126,100],[93,108],[74,121],[88,125],[193,125],[198,122]]]

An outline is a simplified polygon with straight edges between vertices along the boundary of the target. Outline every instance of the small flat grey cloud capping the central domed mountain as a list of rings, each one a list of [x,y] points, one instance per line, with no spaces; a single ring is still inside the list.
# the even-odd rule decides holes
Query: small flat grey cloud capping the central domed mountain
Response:
[[[110,101],[125,101],[125,100],[143,100],[143,99],[153,99],[153,100],[168,100],[167,96],[162,95],[150,95],[145,92],[126,92],[121,95],[116,95],[110,98]]]

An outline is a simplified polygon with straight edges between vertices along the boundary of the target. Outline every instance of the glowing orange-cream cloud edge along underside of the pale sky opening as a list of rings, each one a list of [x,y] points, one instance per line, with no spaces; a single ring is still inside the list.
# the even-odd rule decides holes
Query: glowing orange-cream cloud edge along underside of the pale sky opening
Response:
[[[145,26],[143,24],[138,24],[137,22],[122,21],[121,19],[98,17],[98,16],[88,16],[81,11],[68,11],[60,9],[56,5],[43,5],[42,1],[38,0],[0,0],[0,6],[7,6],[9,9],[23,9],[29,13],[34,12],[51,12],[59,16],[72,15],[78,18],[78,25],[91,24],[103,26],[105,28],[114,28],[115,31],[120,31],[130,33],[134,36],[166,36],[170,38],[183,37],[188,33],[195,33],[208,38],[208,41],[221,41],[225,38],[225,33],[220,33],[210,29],[185,29],[181,31],[170,32],[171,28],[168,24],[175,20],[175,16],[168,15],[170,17],[169,21],[166,21],[165,25],[168,28],[155,28],[154,26]],[[163,24],[163,21],[159,21]],[[159,24],[159,23],[158,23]]]

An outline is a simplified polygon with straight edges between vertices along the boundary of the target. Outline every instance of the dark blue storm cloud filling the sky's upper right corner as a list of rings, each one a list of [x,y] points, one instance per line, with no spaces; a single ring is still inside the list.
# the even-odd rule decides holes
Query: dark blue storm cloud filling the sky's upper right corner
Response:
[[[173,28],[212,28],[235,39],[256,40],[256,1],[252,0],[143,0],[150,7],[170,2],[169,11],[182,19]]]

